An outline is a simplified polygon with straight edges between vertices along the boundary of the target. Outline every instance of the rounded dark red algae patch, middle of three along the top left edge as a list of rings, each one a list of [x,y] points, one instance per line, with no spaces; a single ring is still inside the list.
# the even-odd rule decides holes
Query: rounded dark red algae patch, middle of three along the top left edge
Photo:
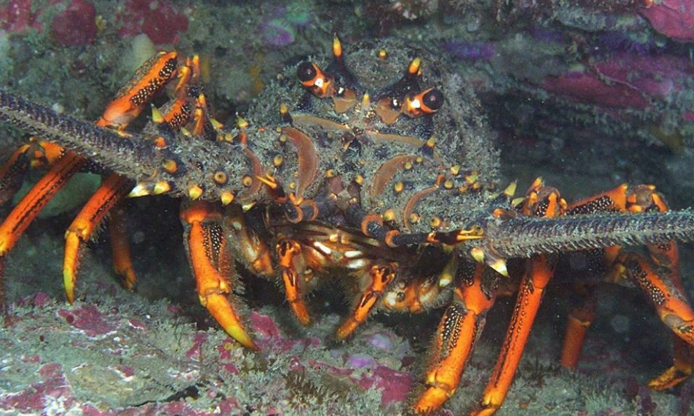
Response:
[[[63,46],[91,45],[96,39],[96,9],[88,0],[73,0],[53,20],[53,38]]]

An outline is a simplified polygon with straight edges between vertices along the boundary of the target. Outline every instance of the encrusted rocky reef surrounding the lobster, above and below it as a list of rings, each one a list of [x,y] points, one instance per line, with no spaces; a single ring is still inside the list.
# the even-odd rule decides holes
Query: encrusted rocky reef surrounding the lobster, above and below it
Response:
[[[345,45],[404,38],[445,54],[474,87],[501,149],[502,183],[518,178],[523,189],[543,176],[569,200],[623,182],[653,183],[672,208],[694,200],[694,34],[661,33],[646,18],[656,9],[638,1],[114,3],[0,1],[1,85],[94,119],[142,59],[175,47],[202,55],[215,115],[233,122],[284,66],[329,51],[333,33]],[[694,24],[687,0],[651,7],[665,5],[675,10],[672,22],[681,10],[682,27]],[[93,31],[74,29],[90,22]],[[572,84],[580,71],[594,76],[586,84],[594,94]],[[562,78],[569,73],[574,78]],[[22,134],[0,132],[3,160]],[[102,235],[82,257],[77,302],[68,305],[62,237],[84,193],[66,194],[7,256],[1,414],[407,413],[441,310],[377,316],[335,344],[331,331],[346,311],[338,295],[312,296],[320,318],[300,328],[278,288],[246,276],[247,314],[262,350],[245,350],[199,306],[176,201],[167,197],[130,202],[137,291],[116,282]],[[694,252],[681,248],[693,298]],[[672,364],[671,340],[632,289],[605,285],[578,371],[559,367],[566,292],[552,287],[545,295],[499,415],[694,415],[692,380],[667,392],[644,387]],[[513,299],[497,300],[440,414],[474,408],[512,309]]]

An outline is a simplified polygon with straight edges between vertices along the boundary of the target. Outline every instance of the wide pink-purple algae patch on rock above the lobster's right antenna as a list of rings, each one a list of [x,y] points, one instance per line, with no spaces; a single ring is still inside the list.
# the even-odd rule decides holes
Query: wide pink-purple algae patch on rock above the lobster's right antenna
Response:
[[[691,75],[686,59],[624,53],[583,72],[545,77],[543,88],[584,104],[645,109],[651,100],[667,100],[681,91]]]

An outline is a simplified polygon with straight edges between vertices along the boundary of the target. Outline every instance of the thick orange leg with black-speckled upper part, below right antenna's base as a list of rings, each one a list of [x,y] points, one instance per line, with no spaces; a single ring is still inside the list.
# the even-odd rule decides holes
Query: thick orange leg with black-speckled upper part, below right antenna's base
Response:
[[[485,324],[495,293],[483,283],[483,265],[466,267],[461,284],[455,288],[453,303],[446,309],[435,335],[432,363],[427,371],[427,389],[414,403],[416,413],[440,408],[458,389],[460,376]],[[492,285],[493,286],[493,285]]]

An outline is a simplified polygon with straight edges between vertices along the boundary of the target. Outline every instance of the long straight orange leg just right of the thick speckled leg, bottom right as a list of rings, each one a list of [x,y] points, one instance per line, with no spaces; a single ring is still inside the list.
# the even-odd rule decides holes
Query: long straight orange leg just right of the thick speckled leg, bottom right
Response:
[[[501,346],[501,354],[494,367],[492,377],[482,395],[482,409],[475,415],[492,415],[504,403],[508,388],[518,369],[525,343],[540,307],[545,287],[552,278],[554,268],[546,256],[536,256],[529,261],[529,270],[520,282],[518,298],[515,301],[511,325]]]

